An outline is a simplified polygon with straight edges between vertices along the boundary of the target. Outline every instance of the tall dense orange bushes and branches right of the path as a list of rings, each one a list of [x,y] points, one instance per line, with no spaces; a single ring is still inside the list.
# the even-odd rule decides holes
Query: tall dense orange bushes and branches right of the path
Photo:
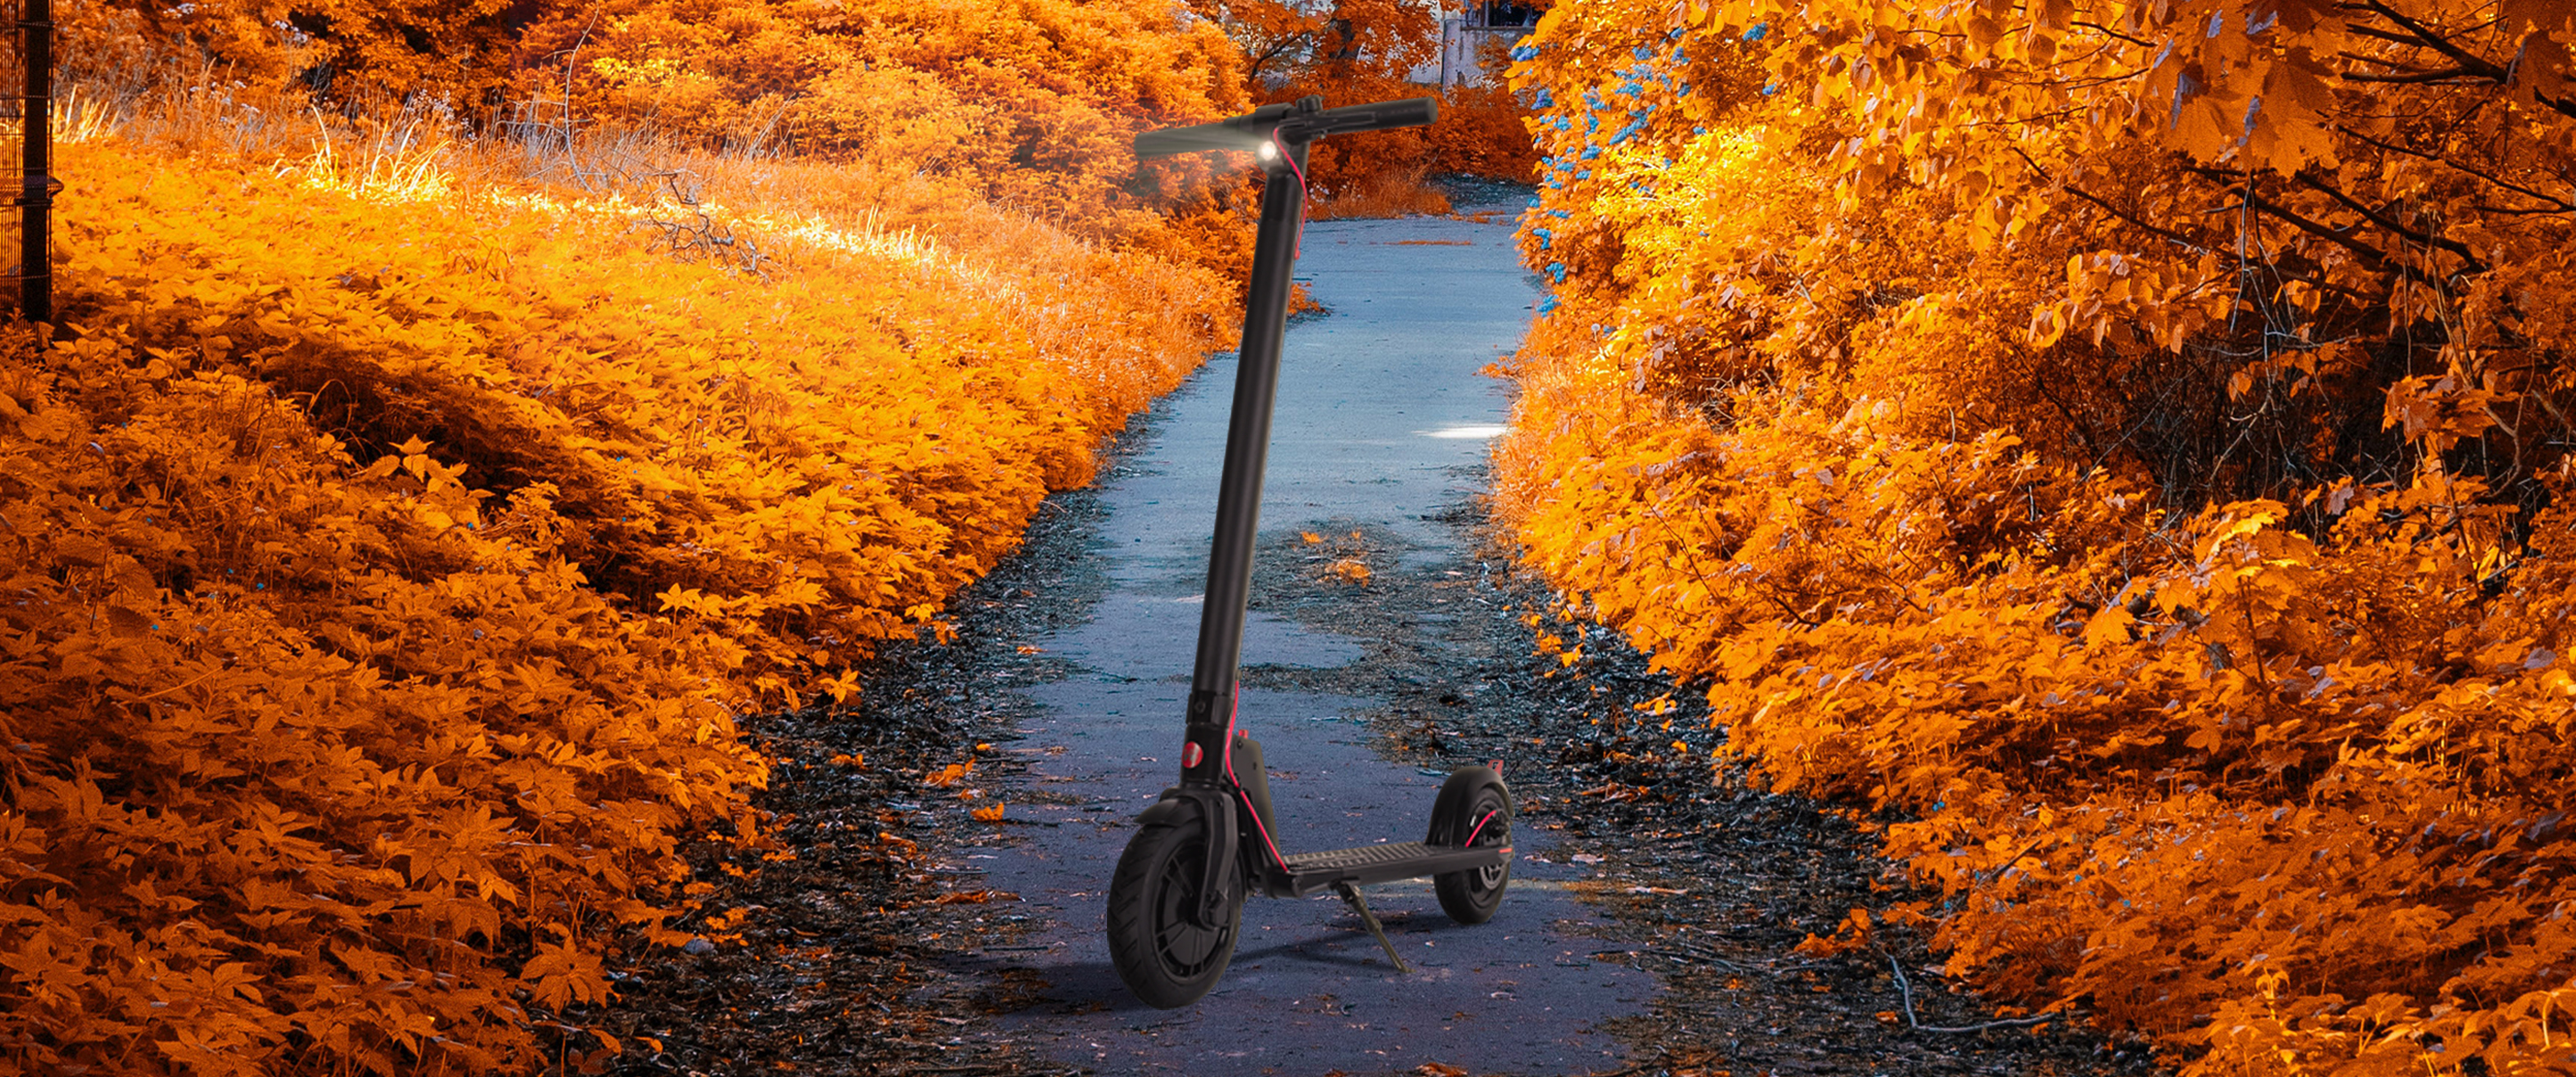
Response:
[[[2576,1064],[2571,39],[1558,5],[1528,559],[1888,809],[1994,995],[2190,1074]]]

